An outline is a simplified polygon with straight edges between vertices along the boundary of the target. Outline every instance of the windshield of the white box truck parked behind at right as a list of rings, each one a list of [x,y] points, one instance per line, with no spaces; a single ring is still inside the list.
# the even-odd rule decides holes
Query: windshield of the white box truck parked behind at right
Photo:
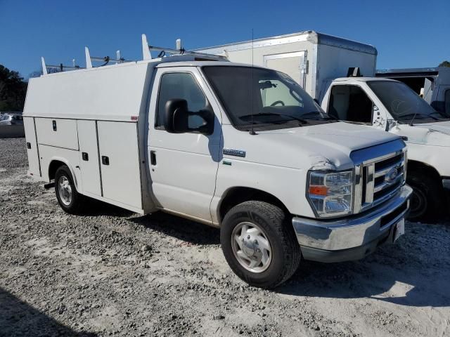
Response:
[[[392,117],[400,123],[409,124],[413,121],[414,124],[419,124],[448,120],[404,83],[368,81],[367,84],[380,98]]]

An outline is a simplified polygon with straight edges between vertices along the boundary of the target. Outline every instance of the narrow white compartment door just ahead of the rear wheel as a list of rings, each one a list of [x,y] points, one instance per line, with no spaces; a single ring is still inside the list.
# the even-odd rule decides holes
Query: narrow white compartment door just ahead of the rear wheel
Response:
[[[96,121],[77,121],[83,192],[101,196]]]

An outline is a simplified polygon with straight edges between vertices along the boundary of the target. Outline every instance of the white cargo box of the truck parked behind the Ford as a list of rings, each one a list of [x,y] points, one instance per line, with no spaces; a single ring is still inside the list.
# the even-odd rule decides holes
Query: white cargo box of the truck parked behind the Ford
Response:
[[[317,99],[323,95],[326,82],[346,77],[349,67],[359,67],[365,77],[373,77],[377,57],[377,50],[369,44],[311,30],[198,51],[284,72]]]

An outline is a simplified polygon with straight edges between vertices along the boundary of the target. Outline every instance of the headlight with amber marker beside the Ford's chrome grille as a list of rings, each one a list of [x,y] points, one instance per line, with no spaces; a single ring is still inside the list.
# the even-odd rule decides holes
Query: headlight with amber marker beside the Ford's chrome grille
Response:
[[[320,218],[352,213],[353,171],[309,172],[307,197]]]

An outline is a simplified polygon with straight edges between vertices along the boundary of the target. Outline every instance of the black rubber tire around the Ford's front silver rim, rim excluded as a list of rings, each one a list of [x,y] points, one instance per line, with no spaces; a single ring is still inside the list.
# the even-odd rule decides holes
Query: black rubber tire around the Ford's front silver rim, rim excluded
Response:
[[[240,264],[233,252],[233,230],[241,223],[261,228],[271,246],[271,260],[262,272],[252,272]],[[245,201],[234,206],[224,218],[220,231],[222,251],[233,272],[252,286],[274,288],[297,270],[301,252],[288,216],[282,209],[264,201]]]

